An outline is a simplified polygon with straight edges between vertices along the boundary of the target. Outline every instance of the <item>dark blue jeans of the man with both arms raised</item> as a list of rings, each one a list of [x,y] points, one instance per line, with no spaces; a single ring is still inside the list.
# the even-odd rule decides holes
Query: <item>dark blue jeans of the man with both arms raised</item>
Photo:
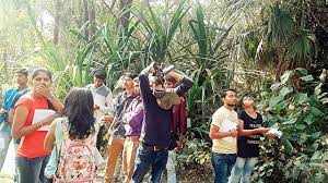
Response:
[[[167,162],[168,150],[154,150],[139,144],[132,183],[141,183],[145,173],[151,170],[150,183],[159,183]]]

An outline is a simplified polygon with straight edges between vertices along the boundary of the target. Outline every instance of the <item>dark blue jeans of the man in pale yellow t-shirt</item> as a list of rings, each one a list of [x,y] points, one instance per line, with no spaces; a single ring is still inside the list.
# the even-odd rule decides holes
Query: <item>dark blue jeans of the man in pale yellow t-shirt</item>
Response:
[[[236,162],[236,154],[212,154],[212,166],[214,168],[214,183],[225,183]]]

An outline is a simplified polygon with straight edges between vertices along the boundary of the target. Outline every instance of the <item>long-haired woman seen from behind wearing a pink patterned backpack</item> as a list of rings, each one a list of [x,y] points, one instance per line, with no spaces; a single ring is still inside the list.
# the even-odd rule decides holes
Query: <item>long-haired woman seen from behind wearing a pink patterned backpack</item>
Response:
[[[60,115],[51,124],[44,144],[47,150],[56,149],[52,152],[56,164],[48,164],[57,169],[54,182],[95,182],[97,149],[92,93],[72,88]]]

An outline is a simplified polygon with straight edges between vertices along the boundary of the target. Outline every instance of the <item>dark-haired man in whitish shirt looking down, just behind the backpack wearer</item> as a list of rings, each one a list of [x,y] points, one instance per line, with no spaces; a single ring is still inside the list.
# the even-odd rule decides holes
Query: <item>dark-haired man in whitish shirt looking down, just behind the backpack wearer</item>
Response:
[[[105,85],[106,72],[104,70],[95,70],[93,72],[94,84],[86,85],[93,94],[94,110],[96,119],[97,149],[101,150],[103,142],[104,126],[101,126],[101,121],[107,118],[107,121],[113,120],[113,96],[112,90]]]

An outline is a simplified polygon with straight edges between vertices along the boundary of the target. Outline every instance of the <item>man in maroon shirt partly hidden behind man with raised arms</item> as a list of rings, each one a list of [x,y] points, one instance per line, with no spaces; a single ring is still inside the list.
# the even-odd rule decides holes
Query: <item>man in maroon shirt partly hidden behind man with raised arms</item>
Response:
[[[166,88],[175,88],[176,80],[173,77],[165,77]],[[176,152],[180,152],[183,148],[183,135],[186,133],[187,118],[186,118],[186,100],[184,97],[179,98],[179,103],[173,106],[173,123],[171,130],[171,145],[168,148],[168,159],[166,163],[167,183],[176,183]]]

